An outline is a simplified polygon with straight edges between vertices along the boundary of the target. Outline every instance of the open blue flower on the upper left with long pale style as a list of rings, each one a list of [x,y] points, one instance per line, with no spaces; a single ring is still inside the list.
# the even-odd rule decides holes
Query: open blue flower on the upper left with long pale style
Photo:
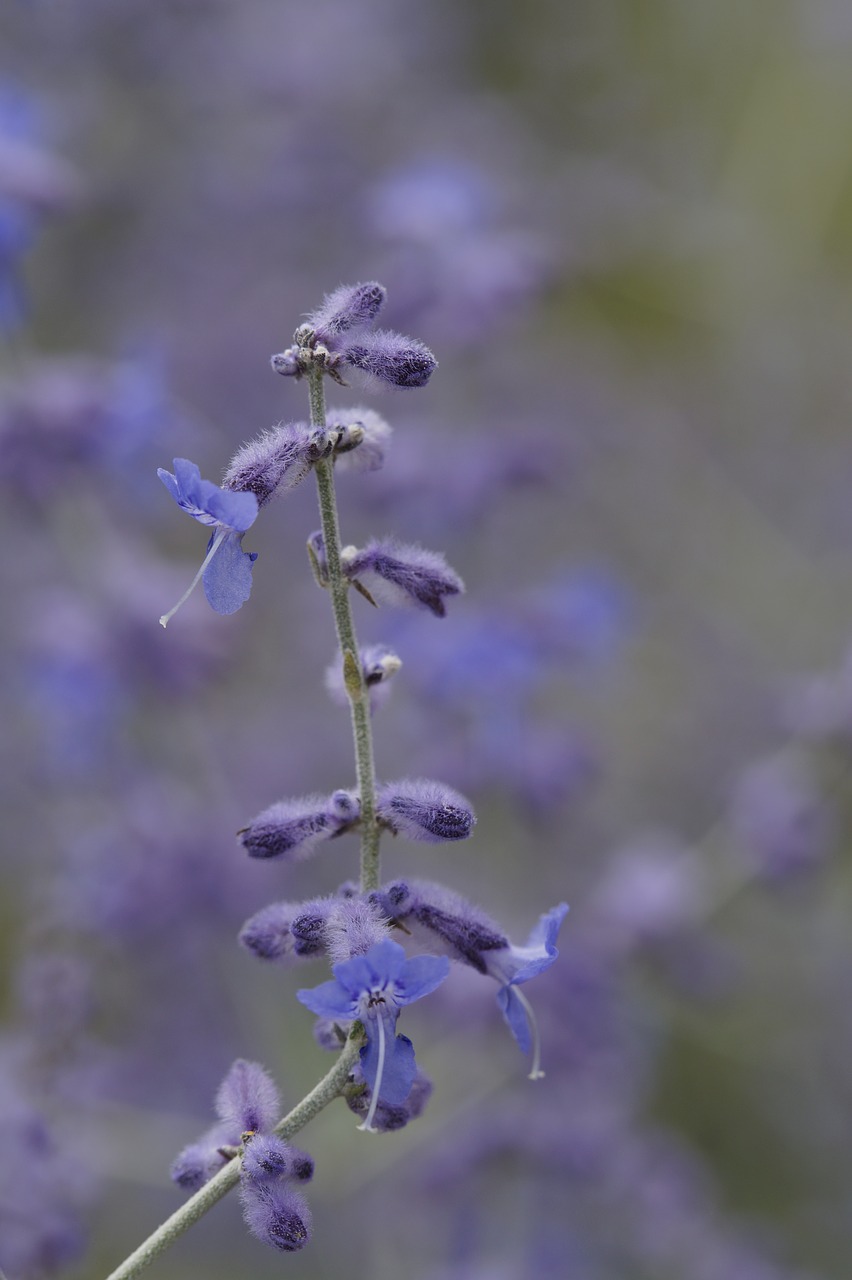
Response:
[[[216,613],[235,613],[252,589],[252,566],[257,552],[244,552],[242,541],[243,534],[257,518],[257,498],[253,493],[220,489],[212,480],[202,480],[196,463],[187,458],[174,460],[174,475],[162,467],[157,475],[182,511],[198,524],[212,526],[201,568],[160,622],[166,626],[201,579],[207,602]]]

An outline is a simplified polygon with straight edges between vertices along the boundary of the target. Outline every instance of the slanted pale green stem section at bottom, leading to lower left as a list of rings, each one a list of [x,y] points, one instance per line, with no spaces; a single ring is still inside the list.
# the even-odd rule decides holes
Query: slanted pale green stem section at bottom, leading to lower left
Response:
[[[308,1120],[312,1120],[315,1115],[319,1115],[324,1107],[327,1107],[329,1102],[333,1102],[339,1097],[343,1085],[347,1083],[347,1078],[352,1066],[358,1056],[358,1050],[363,1043],[363,1034],[359,1027],[353,1028],[349,1039],[347,1041],[340,1057],[336,1060],[331,1070],[325,1075],[319,1084],[316,1084],[302,1101],[293,1107],[293,1110],[284,1116],[279,1124],[275,1125],[274,1133],[279,1138],[292,1138],[294,1133],[303,1129]],[[125,1258],[124,1262],[115,1268],[107,1280],[133,1280],[133,1276],[138,1276],[150,1262],[154,1262],[159,1253],[168,1249],[179,1236],[183,1235],[198,1219],[203,1217],[205,1213],[216,1204],[223,1196],[237,1185],[239,1181],[239,1157],[230,1160],[224,1169],[220,1169],[217,1174],[210,1179],[209,1183],[196,1192],[184,1204],[180,1206],[171,1217],[166,1219],[154,1231],[145,1244],[141,1244],[134,1253]]]

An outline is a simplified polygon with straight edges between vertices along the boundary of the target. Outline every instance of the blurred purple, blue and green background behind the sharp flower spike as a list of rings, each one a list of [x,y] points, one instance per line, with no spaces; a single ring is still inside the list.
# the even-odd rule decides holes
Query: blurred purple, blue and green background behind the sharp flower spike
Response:
[[[440,367],[344,540],[467,582],[374,612],[384,777],[478,824],[388,841],[522,942],[546,1078],[458,972],[408,1010],[426,1114],[303,1134],[315,1239],[235,1197],[151,1276],[844,1280],[852,1252],[852,8],[844,0],[8,0],[0,14],[0,1266],[106,1275],[235,1056],[327,1068],[237,945],[356,873],[234,832],[352,783],[312,481],[249,603],[159,616],[219,479],[307,415],[269,356],[342,282]],[[384,319],[384,317],[383,317]]]

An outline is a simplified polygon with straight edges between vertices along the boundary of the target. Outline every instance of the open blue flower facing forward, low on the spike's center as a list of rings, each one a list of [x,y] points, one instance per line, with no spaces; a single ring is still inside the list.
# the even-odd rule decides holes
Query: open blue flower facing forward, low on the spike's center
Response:
[[[404,1005],[429,996],[449,973],[446,956],[413,956],[398,942],[385,938],[362,956],[335,964],[334,978],[297,997],[320,1018],[351,1023],[361,1019],[367,1043],[361,1050],[361,1069],[372,1100],[361,1125],[372,1133],[379,1102],[399,1106],[414,1083],[414,1047],[397,1036],[397,1019]]]

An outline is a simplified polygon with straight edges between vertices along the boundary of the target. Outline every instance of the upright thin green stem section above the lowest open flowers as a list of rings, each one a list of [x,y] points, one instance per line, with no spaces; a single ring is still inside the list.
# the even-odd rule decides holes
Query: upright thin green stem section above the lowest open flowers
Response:
[[[311,425],[325,429],[325,390],[322,370],[313,366],[308,374],[311,398]],[[376,769],[372,758],[372,726],[370,723],[370,692],[363,680],[358,658],[349,582],[340,564],[340,525],[334,494],[334,462],[327,458],[315,466],[320,497],[320,517],[329,570],[329,593],[334,609],[334,625],[343,654],[343,682],[349,698],[352,733],[356,749],[358,794],[361,796],[361,892],[379,888],[381,882],[379,840],[381,828],[376,820]]]

